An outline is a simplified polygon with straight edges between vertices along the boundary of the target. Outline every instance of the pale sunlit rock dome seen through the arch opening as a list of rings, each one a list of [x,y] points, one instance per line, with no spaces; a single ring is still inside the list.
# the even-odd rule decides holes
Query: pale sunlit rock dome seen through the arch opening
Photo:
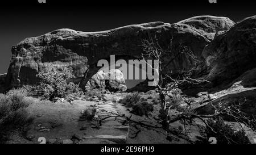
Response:
[[[101,70],[92,76],[86,86],[90,89],[108,89],[110,91],[123,92],[127,90],[123,73],[118,69],[109,70],[108,73]]]

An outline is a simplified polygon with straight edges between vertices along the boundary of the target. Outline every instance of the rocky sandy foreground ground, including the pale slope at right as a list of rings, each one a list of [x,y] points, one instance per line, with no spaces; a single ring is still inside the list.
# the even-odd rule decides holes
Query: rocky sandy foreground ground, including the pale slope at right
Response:
[[[191,107],[198,110],[200,114],[211,114],[211,103],[236,100],[239,97],[255,97],[256,87],[245,87],[246,76],[238,78],[241,81],[235,82],[228,89],[215,93],[201,92],[193,98]],[[31,104],[28,111],[35,120],[26,137],[13,135],[9,143],[39,143],[39,137],[45,137],[47,143],[193,143],[205,137],[205,124],[200,119],[193,119],[192,123],[177,120],[170,124],[170,129],[175,135],[167,135],[159,123],[160,105],[157,102],[159,95],[155,90],[147,93],[140,93],[141,97],[148,103],[154,105],[154,111],[148,116],[131,114],[131,108],[127,108],[119,99],[124,98],[128,93],[106,93],[103,98],[93,96],[88,100],[84,95],[71,95],[69,99],[59,100],[56,103],[49,100],[32,98],[35,103]],[[241,96],[241,94],[243,94]],[[29,97],[31,98],[31,97]],[[249,100],[250,101],[250,100]],[[248,103],[249,104],[249,103]],[[92,121],[81,118],[82,110],[96,106],[98,114]],[[184,105],[183,105],[184,106]],[[252,106],[255,106],[252,104]],[[255,107],[245,106],[247,109],[255,110]],[[177,116],[180,111],[171,110],[171,116]],[[113,116],[108,118],[108,116]],[[115,117],[117,116],[117,117]],[[99,124],[99,120],[102,120]],[[129,118],[127,120],[126,118]],[[142,122],[149,125],[138,125],[135,122]],[[185,123],[185,126],[184,126]],[[243,128],[251,143],[255,143],[256,132],[244,124],[226,121],[234,131]],[[184,128],[185,127],[185,128]]]

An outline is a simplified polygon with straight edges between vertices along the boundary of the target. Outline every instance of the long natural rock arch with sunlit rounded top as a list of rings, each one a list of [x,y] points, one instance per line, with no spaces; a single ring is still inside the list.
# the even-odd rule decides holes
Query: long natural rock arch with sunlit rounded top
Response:
[[[168,45],[173,37],[174,47],[185,45],[201,57],[214,33],[229,30],[232,25],[232,20],[228,18],[197,16],[175,24],[153,22],[102,32],[60,29],[30,37],[12,48],[5,87],[37,83],[36,74],[40,72],[40,66],[48,62],[71,66],[73,74],[79,79],[77,82],[84,87],[98,72],[98,60],[108,60],[110,55],[125,60],[138,58],[143,52],[142,39],[148,36],[156,36],[162,45]],[[168,68],[175,73],[188,69],[189,63],[187,58],[180,56]]]

